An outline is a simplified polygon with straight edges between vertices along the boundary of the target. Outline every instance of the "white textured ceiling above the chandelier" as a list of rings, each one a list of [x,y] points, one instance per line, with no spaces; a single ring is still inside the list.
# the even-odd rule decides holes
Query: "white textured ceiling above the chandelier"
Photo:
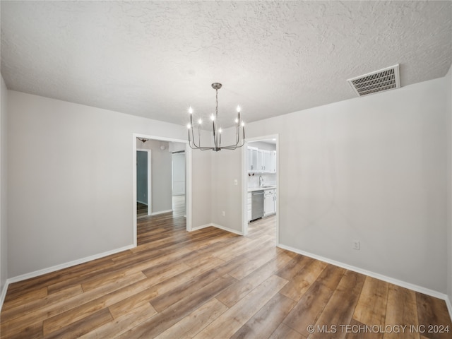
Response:
[[[350,99],[348,78],[394,64],[402,86],[445,76],[451,18],[451,1],[1,1],[1,73],[176,124],[212,113],[220,82],[226,125],[237,104],[256,121]]]

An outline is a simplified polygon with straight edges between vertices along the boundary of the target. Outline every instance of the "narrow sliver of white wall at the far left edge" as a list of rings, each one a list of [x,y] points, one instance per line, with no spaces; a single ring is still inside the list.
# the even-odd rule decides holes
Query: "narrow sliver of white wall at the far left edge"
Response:
[[[2,295],[8,278],[8,218],[7,218],[7,191],[8,191],[8,90],[3,77],[0,89],[0,295]],[[1,304],[0,304],[1,307]]]

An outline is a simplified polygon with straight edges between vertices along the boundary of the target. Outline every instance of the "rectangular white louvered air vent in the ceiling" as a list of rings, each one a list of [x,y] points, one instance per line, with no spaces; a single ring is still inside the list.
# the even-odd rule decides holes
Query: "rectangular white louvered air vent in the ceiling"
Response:
[[[359,97],[400,88],[398,64],[347,81]]]

